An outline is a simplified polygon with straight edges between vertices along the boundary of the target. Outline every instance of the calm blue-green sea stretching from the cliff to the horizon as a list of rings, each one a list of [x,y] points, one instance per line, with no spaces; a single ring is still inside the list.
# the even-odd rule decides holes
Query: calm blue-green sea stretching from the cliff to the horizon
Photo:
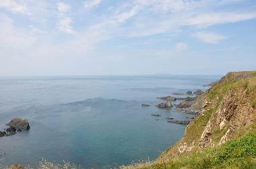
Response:
[[[181,139],[191,115],[141,107],[172,92],[207,89],[220,76],[51,76],[0,78],[0,129],[14,117],[31,129],[0,137],[0,166],[36,167],[42,158],[110,168],[154,160]],[[185,97],[185,96],[180,96]],[[161,117],[152,117],[160,114]]]

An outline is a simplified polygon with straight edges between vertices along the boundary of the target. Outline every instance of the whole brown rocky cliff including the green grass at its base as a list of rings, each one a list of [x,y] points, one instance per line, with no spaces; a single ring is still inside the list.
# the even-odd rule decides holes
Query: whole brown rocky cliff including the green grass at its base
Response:
[[[228,72],[202,98],[177,144],[126,168],[256,168],[256,71]]]

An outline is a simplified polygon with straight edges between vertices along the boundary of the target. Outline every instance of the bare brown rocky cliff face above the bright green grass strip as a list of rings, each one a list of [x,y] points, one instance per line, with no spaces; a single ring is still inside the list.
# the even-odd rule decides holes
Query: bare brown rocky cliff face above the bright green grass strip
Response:
[[[180,159],[255,132],[256,72],[229,72],[203,95],[201,114],[159,161]]]

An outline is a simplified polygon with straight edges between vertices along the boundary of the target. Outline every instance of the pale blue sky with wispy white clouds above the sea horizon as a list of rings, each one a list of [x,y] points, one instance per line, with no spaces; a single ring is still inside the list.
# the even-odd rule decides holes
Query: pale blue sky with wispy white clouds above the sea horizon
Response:
[[[256,70],[255,0],[0,0],[0,76]]]

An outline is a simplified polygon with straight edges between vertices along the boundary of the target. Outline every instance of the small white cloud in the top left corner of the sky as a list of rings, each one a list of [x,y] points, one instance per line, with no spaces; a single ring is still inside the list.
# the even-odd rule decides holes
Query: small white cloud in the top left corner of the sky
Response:
[[[23,13],[29,15],[29,11],[24,3],[20,3],[20,1],[15,0],[1,0],[0,8],[5,8],[9,11]]]

